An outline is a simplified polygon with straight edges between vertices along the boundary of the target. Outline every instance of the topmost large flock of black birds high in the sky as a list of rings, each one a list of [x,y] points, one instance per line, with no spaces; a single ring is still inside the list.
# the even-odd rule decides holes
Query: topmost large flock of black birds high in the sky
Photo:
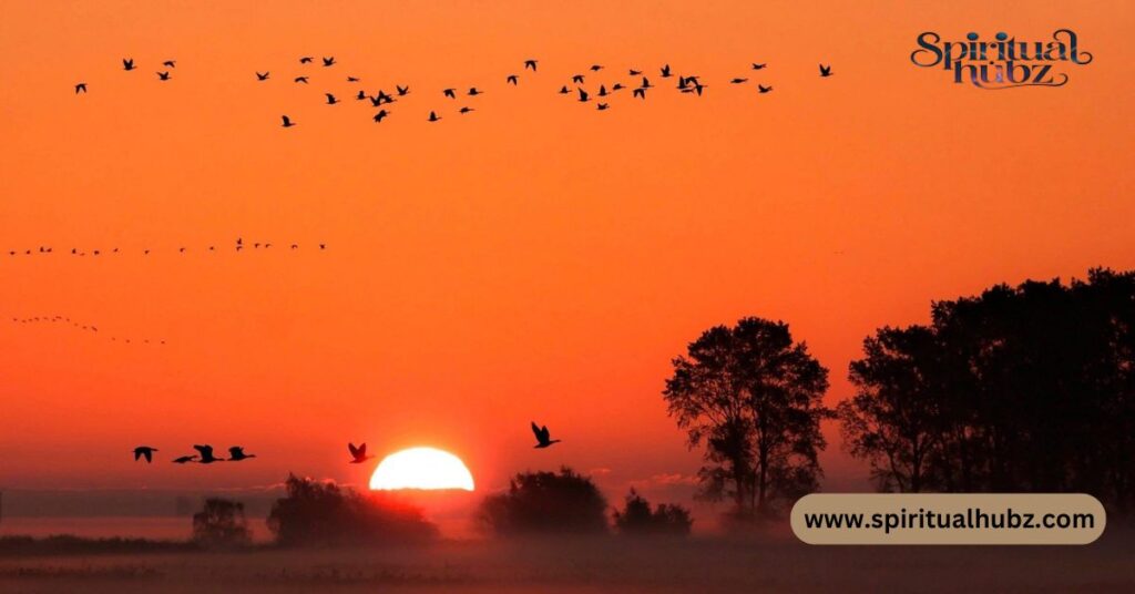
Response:
[[[299,59],[299,61],[301,68],[304,68],[303,72],[309,73],[309,70],[306,70],[305,67],[311,67],[312,65],[314,65],[316,58],[312,56],[303,56]],[[320,61],[322,62],[323,68],[330,68],[334,66],[338,66],[339,64],[334,56],[321,57]],[[758,62],[750,62],[750,64],[751,64],[751,70],[759,72],[764,70],[767,67],[767,64],[758,64]],[[539,60],[531,58],[524,60],[521,65],[519,65],[520,73],[522,74],[516,74],[516,73],[506,74],[504,76],[503,84],[505,86],[507,85],[519,86],[521,84],[521,78],[527,77],[529,72],[531,73],[531,75],[536,74],[538,65]],[[161,64],[161,67],[163,69],[157,70],[154,73],[158,77],[158,82],[169,82],[171,78],[171,73],[176,68],[176,66],[177,66],[176,60],[163,61]],[[137,70],[138,67],[135,65],[133,58],[123,58],[123,69],[125,72],[134,72]],[[589,103],[592,101],[594,98],[596,109],[599,111],[605,111],[611,108],[611,98],[613,98],[616,93],[621,91],[630,90],[632,99],[646,100],[648,91],[650,93],[654,93],[655,89],[658,89],[661,85],[663,85],[663,83],[661,82],[659,83],[651,82],[650,76],[657,76],[658,80],[667,80],[667,83],[670,82],[669,81],[670,78],[674,78],[675,84],[673,84],[673,87],[676,91],[696,97],[701,97],[705,90],[708,87],[708,84],[704,83],[700,76],[696,74],[676,73],[671,68],[669,64],[658,67],[657,75],[654,74],[648,75],[646,70],[638,68],[627,69],[627,76],[629,77],[630,81],[634,81],[633,83],[628,82],[627,84],[623,84],[622,81],[611,80],[609,87],[607,86],[608,83],[605,82],[599,82],[598,86],[596,86],[595,84],[591,84],[590,87],[586,86],[588,76],[591,76],[592,78],[598,77],[600,76],[599,73],[605,69],[606,67],[602,64],[592,64],[588,68],[588,70],[590,70],[590,74],[580,73],[572,75],[570,82],[566,82],[560,87],[558,94],[574,95],[575,100],[579,101],[580,103]],[[276,78],[272,78],[272,72],[270,69],[264,72],[254,70],[254,74],[255,74],[254,81],[257,83],[270,83],[272,81],[276,81]],[[824,78],[832,76],[831,65],[821,64],[819,76]],[[250,78],[252,77],[250,76]],[[308,85],[311,84],[312,75],[297,74],[295,76],[291,76],[291,78],[293,84]],[[352,85],[362,84],[362,80],[360,77],[352,76],[350,74],[343,75],[342,80]],[[734,76],[729,81],[729,84],[745,85],[748,82],[749,82],[748,76]],[[595,81],[592,81],[592,83],[595,83]],[[762,83],[757,83],[756,87],[757,87],[757,93],[759,94],[771,93],[773,91],[772,85],[766,85]],[[87,91],[89,91],[87,83],[79,82],[75,84],[75,94],[86,93]],[[329,91],[322,92],[323,103],[327,106],[337,106],[339,103],[343,103],[344,100],[340,98],[340,94],[336,94],[336,92],[329,92]],[[369,93],[365,90],[360,89],[358,92],[351,91],[348,95],[353,95],[355,102],[359,102],[363,106],[377,110],[372,112],[371,120],[375,123],[380,123],[387,117],[390,117],[390,115],[393,114],[394,109],[393,103],[400,101],[402,98],[405,98],[409,94],[410,94],[410,85],[396,84],[394,85],[394,91],[389,93],[387,93],[382,89],[379,89],[377,93]],[[471,98],[476,98],[481,94],[485,94],[485,91],[478,86],[470,86],[468,87],[468,90],[464,91],[459,90],[456,86],[440,90],[442,101],[445,100],[457,101],[459,97],[466,98],[466,101],[469,101],[471,100]],[[343,95],[343,97],[348,97],[348,95]],[[461,107],[456,108],[454,111],[459,115],[464,116],[466,114],[476,111],[476,108],[470,107],[470,104],[468,104],[466,102],[462,102]],[[429,110],[429,116],[426,117],[424,119],[430,123],[440,122],[443,119],[443,116],[439,114],[442,112],[444,112],[444,110],[435,107],[434,109]],[[291,128],[296,126],[296,124],[297,124],[296,120],[293,119],[289,115],[284,114],[280,116],[281,127]]]

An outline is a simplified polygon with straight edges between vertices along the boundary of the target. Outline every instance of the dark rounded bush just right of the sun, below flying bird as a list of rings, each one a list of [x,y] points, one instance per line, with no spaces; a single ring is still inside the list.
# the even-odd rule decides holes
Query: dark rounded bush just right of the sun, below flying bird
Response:
[[[526,533],[602,534],[607,500],[590,477],[568,467],[560,472],[520,472],[508,491],[481,502],[480,519],[502,536]]]

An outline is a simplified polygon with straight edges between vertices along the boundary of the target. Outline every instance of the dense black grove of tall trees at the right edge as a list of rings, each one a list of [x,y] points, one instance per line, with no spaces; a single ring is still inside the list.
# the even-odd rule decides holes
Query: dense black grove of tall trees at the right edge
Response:
[[[997,285],[883,328],[844,443],[885,491],[1082,491],[1135,504],[1135,273]]]

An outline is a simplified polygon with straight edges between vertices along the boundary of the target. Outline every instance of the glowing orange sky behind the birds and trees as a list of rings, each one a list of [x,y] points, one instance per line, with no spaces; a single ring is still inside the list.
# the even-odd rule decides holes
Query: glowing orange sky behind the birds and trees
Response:
[[[1135,267],[1129,2],[537,5],[0,2],[0,319],[167,341],[0,324],[0,486],[363,484],[348,440],[451,450],[481,487],[560,463],[612,488],[688,476],[659,392],[711,325],[789,321],[835,403],[864,336],[932,299]],[[1095,56],[1061,89],[908,59],[923,31],[1059,27]],[[709,86],[602,114],[555,94],[594,62]],[[375,125],[348,74],[412,92]],[[237,236],[329,249],[237,256]],[[6,256],[37,245],[132,253]],[[532,450],[530,419],[564,443]],[[829,434],[829,485],[861,485]],[[165,463],[202,442],[260,458]],[[131,461],[138,443],[163,463]]]

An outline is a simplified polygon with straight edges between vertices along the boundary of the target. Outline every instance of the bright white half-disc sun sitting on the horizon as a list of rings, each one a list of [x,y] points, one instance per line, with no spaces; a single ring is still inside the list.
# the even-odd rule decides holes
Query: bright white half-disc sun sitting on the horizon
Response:
[[[370,488],[473,490],[473,475],[460,458],[436,447],[411,447],[382,459],[370,477]]]

